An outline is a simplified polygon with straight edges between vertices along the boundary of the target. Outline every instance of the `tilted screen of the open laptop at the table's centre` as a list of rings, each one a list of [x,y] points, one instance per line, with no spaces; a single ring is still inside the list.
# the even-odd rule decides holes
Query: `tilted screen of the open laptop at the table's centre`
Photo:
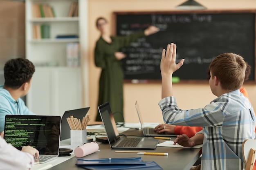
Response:
[[[108,136],[108,141],[111,143],[112,146],[112,144],[119,139],[119,133],[117,131],[117,126],[110,105],[107,102],[105,104],[102,104],[98,108]]]

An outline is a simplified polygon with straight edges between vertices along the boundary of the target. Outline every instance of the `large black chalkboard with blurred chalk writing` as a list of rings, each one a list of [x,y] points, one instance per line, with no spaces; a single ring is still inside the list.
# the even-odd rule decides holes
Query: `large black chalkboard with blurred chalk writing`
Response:
[[[236,53],[252,67],[255,81],[255,11],[115,12],[116,35],[143,31],[150,25],[160,31],[140,38],[120,51],[125,79],[161,79],[162,50],[177,44],[177,62],[184,65],[173,76],[180,80],[207,80],[207,68],[217,55]]]

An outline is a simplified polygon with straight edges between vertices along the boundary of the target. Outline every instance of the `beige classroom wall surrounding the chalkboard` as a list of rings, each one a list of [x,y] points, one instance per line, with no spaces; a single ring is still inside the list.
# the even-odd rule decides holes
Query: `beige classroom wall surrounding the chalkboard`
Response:
[[[89,0],[89,104],[92,119],[97,113],[98,82],[100,68],[94,65],[94,46],[99,38],[99,32],[95,26],[95,20],[99,16],[106,17],[111,24],[114,11],[167,11],[176,10],[174,7],[185,0]],[[256,0],[197,0],[208,9],[256,9]],[[171,40],[170,40],[171,42]],[[167,44],[166,44],[167,45]],[[182,68],[180,68],[182,69]],[[256,85],[244,86],[256,108]],[[174,95],[181,109],[199,108],[209,104],[216,98],[208,84],[174,84]],[[138,122],[135,110],[135,101],[139,102],[144,122],[159,122],[162,113],[158,102],[161,99],[161,84],[124,84],[124,118],[126,122]]]

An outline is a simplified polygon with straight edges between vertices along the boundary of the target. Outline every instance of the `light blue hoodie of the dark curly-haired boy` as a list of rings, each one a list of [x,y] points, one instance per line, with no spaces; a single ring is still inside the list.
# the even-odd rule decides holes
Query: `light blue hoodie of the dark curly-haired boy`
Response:
[[[32,113],[24,101],[18,98],[15,101],[9,91],[0,86],[0,132],[4,131],[5,115],[35,115]]]

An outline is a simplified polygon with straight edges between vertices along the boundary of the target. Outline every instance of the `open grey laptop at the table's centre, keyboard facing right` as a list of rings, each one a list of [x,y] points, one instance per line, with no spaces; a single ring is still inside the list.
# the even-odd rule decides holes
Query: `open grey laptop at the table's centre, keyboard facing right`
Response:
[[[108,137],[108,142],[112,149],[155,149],[159,140],[147,137],[121,137],[117,131],[115,119],[113,117],[109,103],[98,107]]]

